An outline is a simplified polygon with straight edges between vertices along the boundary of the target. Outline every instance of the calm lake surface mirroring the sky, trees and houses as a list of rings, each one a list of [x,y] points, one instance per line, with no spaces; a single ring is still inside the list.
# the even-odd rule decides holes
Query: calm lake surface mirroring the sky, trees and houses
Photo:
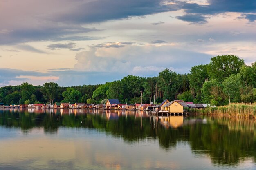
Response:
[[[0,110],[0,170],[113,169],[256,170],[256,121]]]

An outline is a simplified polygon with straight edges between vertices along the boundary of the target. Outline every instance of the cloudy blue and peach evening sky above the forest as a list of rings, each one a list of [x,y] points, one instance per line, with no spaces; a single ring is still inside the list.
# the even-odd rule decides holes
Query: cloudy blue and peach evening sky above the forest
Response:
[[[0,86],[103,84],[256,61],[256,0],[0,0]]]

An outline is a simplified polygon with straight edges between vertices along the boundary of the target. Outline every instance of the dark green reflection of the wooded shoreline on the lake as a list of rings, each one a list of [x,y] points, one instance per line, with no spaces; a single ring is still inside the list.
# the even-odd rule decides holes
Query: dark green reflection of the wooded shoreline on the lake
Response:
[[[153,129],[154,123],[156,127]],[[153,117],[142,112],[100,110],[0,110],[0,126],[29,133],[43,128],[58,133],[60,127],[94,128],[124,142],[158,140],[164,150],[188,142],[192,153],[209,155],[216,165],[237,165],[245,158],[256,162],[256,121],[248,118],[189,116]],[[153,130],[152,130],[153,129]]]

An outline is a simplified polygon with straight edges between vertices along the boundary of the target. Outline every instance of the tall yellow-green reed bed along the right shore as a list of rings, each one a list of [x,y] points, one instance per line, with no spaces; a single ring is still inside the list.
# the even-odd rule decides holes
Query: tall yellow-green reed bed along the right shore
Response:
[[[189,109],[189,112],[209,115],[228,115],[231,117],[256,117],[256,103],[232,103],[226,106],[206,108],[204,110]]]

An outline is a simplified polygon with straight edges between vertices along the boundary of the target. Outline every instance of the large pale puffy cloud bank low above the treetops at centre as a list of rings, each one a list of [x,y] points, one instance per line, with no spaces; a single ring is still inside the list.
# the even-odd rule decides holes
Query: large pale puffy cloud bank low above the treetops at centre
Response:
[[[89,51],[78,53],[75,58],[77,63],[74,65],[74,69],[79,71],[140,74],[139,69],[143,68],[153,71],[153,73],[146,72],[143,75],[155,76],[162,68],[173,68],[187,73],[191,66],[208,63],[211,56],[175,49],[171,45],[139,46],[132,44],[123,48],[91,48]]]

